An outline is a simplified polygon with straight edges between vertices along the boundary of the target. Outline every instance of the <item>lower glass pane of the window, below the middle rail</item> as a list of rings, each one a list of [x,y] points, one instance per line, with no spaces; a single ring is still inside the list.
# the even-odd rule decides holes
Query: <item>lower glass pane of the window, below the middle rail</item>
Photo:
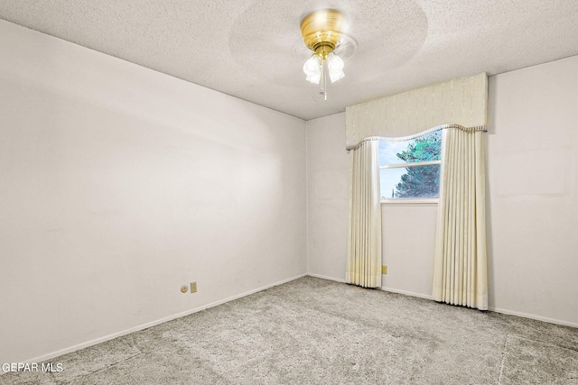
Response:
[[[381,198],[438,197],[440,165],[379,170]]]

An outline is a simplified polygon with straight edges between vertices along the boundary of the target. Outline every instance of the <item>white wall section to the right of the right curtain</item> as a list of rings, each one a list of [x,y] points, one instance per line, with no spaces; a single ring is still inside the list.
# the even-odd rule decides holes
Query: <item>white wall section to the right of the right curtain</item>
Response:
[[[578,326],[576,69],[489,78],[489,306]]]

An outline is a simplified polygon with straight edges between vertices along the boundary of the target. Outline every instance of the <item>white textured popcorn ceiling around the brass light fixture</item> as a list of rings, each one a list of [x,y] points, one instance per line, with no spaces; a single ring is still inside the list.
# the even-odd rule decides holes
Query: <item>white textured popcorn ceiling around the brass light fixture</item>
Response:
[[[358,48],[318,102],[294,50],[328,7]],[[0,18],[306,120],[578,54],[575,0],[0,0]]]

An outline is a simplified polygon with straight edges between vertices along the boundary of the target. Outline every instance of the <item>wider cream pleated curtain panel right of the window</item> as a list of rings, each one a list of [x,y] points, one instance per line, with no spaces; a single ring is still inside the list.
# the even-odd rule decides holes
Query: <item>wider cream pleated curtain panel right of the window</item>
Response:
[[[488,309],[485,133],[443,132],[433,299]]]

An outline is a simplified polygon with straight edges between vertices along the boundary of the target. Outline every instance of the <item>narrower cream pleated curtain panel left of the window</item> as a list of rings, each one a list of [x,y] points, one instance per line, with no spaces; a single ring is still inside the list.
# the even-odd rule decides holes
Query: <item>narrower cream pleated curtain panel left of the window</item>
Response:
[[[350,229],[346,281],[381,287],[381,206],[378,141],[350,151]]]

